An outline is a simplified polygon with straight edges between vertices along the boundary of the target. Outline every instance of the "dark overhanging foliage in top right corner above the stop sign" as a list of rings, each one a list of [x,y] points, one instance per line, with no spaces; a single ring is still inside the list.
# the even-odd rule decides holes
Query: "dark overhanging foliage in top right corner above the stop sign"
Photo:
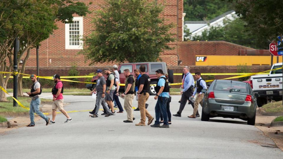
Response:
[[[235,3],[236,14],[247,23],[253,34],[270,41],[282,36],[283,2],[279,0],[228,0]]]

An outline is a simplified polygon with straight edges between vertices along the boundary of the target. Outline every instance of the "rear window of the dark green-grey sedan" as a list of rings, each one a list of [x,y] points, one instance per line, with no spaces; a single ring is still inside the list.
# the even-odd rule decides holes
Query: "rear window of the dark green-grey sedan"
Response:
[[[214,86],[214,90],[247,93],[248,86],[246,84],[241,84],[241,83],[232,82],[231,84],[231,82],[216,82]]]

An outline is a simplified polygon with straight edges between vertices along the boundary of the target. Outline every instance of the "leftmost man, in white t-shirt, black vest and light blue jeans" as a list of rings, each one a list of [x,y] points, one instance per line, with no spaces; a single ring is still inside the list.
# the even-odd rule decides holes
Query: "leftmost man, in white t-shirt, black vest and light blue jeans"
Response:
[[[35,125],[34,123],[34,113],[36,113],[37,115],[39,115],[40,117],[42,117],[45,121],[46,121],[46,125],[48,125],[49,123],[49,117],[45,116],[40,110],[39,110],[39,105],[40,105],[40,98],[38,95],[41,94],[41,87],[40,87],[40,83],[36,80],[36,75],[32,74],[29,77],[32,82],[33,85],[31,87],[30,92],[27,92],[27,94],[29,95],[29,97],[32,98],[32,101],[30,102],[29,105],[29,118],[30,118],[30,124],[27,125],[27,127],[33,127]]]

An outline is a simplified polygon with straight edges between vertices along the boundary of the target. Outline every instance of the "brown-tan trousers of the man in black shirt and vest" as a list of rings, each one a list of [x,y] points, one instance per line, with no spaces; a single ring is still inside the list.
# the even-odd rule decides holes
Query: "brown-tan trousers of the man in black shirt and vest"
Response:
[[[147,109],[145,109],[145,103],[147,102],[148,98],[149,98],[149,93],[146,93],[146,95],[142,93],[141,96],[139,96],[139,100],[138,100],[138,107],[141,113],[141,123],[142,124],[145,124],[146,117],[148,117],[149,119],[152,118],[152,116],[149,114]]]

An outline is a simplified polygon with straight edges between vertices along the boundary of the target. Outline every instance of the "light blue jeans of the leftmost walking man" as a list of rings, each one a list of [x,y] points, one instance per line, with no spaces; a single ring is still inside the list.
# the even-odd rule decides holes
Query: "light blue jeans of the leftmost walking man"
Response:
[[[48,119],[47,116],[45,116],[40,110],[40,98],[37,98],[36,100],[32,100],[29,105],[29,118],[30,118],[30,124],[34,125],[34,113],[42,117],[45,121]]]

